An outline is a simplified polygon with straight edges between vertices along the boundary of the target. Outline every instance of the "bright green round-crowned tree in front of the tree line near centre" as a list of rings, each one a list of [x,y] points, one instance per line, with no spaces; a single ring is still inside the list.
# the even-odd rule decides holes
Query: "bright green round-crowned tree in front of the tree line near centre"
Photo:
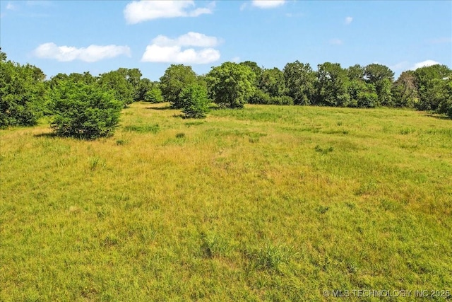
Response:
[[[248,66],[225,62],[206,76],[210,98],[222,107],[243,108],[254,95],[256,75]]]

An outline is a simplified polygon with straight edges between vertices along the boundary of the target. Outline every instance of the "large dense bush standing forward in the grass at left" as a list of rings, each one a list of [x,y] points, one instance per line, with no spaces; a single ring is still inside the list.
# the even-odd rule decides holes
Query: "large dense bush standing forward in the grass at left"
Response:
[[[96,84],[60,83],[49,95],[51,127],[63,137],[96,139],[112,134],[123,103]]]

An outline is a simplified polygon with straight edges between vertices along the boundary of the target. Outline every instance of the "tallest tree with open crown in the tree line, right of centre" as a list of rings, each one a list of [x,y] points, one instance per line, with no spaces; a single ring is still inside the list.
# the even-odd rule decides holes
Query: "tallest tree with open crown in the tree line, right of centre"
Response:
[[[309,105],[314,102],[314,83],[316,73],[311,65],[298,60],[287,63],[283,69],[287,95],[293,98],[296,105]]]

